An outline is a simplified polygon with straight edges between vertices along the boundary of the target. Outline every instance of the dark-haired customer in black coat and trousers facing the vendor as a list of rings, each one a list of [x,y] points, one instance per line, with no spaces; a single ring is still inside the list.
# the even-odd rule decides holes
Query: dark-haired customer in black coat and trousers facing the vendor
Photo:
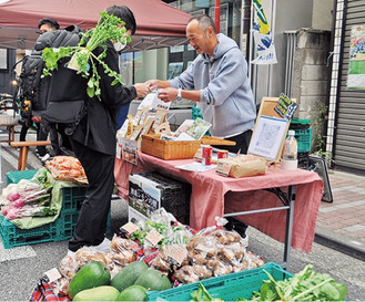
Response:
[[[129,8],[113,6],[107,11],[122,19],[129,33],[135,32],[134,15]],[[113,42],[115,41],[107,43],[107,56],[103,61],[110,69],[119,72],[118,52]],[[98,55],[102,49],[97,49],[95,52]],[[149,93],[149,87],[144,83],[130,87],[120,83],[112,85],[113,79],[105,74],[101,65],[98,66],[98,72],[101,76],[101,101],[88,97],[87,116],[71,135],[73,152],[85,170],[89,187],[77,227],[69,241],[70,256],[84,246],[95,247],[98,250],[109,249],[110,241],[105,238],[105,231],[114,187],[116,110]]]

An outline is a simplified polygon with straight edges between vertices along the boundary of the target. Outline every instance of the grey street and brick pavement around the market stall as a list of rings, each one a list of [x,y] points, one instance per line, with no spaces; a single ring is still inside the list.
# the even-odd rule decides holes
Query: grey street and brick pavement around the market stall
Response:
[[[29,135],[29,139],[33,137],[34,134]],[[4,143],[1,147],[1,179],[6,181],[6,173],[17,169],[18,152]],[[27,168],[40,167],[39,159],[31,150]],[[329,273],[337,282],[345,282],[348,289],[347,301],[365,301],[365,222],[361,219],[364,217],[365,177],[337,171],[329,177],[334,201],[321,204],[316,241],[322,240],[333,248],[314,242],[311,253],[292,250],[288,270],[295,273],[307,263],[313,263],[316,271]],[[126,212],[125,201],[112,201],[112,233],[118,232],[119,227],[126,221]],[[282,243],[253,228],[249,228],[249,236],[250,251],[262,256],[265,262],[282,262]],[[0,242],[0,301],[28,300],[42,273],[58,267],[67,252],[67,243],[45,242],[3,249]]]

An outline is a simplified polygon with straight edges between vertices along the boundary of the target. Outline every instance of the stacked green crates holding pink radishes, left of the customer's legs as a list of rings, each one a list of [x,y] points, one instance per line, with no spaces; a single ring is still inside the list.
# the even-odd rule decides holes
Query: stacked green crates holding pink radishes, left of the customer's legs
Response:
[[[20,170],[7,174],[7,184],[18,184],[21,179],[31,179],[38,170]],[[87,187],[64,187],[60,216],[50,223],[32,229],[20,229],[0,215],[0,237],[6,249],[18,246],[48,241],[62,241],[72,237]],[[107,232],[111,231],[110,212]]]

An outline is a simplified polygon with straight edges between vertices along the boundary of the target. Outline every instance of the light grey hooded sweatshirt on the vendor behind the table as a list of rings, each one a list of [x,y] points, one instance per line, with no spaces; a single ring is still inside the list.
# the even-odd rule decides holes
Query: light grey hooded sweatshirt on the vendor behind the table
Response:
[[[212,58],[200,54],[172,87],[200,90],[203,118],[212,124],[211,134],[229,137],[254,126],[256,105],[247,77],[247,62],[237,44],[220,33]]]

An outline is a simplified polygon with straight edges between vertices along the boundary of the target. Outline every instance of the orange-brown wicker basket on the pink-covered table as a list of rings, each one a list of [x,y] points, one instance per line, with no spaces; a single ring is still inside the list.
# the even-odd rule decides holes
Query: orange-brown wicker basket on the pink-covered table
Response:
[[[141,150],[162,159],[193,158],[200,148],[200,140],[162,140],[160,135],[142,135]]]

